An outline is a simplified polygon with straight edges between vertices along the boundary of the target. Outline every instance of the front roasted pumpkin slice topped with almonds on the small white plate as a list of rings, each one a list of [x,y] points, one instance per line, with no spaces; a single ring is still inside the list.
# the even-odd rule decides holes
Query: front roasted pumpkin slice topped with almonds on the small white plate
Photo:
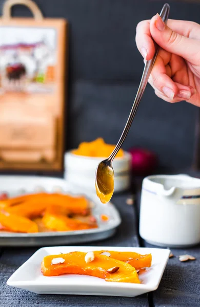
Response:
[[[45,276],[79,274],[104,278],[106,281],[140,283],[136,270],[126,262],[96,254],[93,261],[86,263],[85,256],[84,252],[46,256],[41,271]]]

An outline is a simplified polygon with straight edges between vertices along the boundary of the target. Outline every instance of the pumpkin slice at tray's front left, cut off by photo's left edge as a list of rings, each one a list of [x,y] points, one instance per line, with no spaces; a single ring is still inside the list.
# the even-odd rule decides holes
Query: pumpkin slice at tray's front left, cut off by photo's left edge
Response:
[[[38,232],[36,223],[26,217],[0,211],[0,224],[8,231]]]

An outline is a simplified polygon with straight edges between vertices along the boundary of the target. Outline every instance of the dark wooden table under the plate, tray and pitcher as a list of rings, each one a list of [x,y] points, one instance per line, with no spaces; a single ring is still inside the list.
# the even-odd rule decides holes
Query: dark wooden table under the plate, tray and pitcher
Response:
[[[127,205],[129,195],[118,195],[113,203],[122,216],[122,224],[114,237],[96,246],[149,246],[138,236],[138,207]],[[199,221],[200,223],[200,221]],[[89,246],[90,244],[88,244]],[[151,246],[152,247],[152,246]],[[168,261],[167,268],[158,290],[138,297],[104,297],[77,295],[37,295],[6,285],[6,281],[35,251],[35,248],[0,248],[0,306],[1,307],[173,307],[200,306],[200,247],[175,250],[175,256],[189,253],[195,261],[180,262],[177,257]]]

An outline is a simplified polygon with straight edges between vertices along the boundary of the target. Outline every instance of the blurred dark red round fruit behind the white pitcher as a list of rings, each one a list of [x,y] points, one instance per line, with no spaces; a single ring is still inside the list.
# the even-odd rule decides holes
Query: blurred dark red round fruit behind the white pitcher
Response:
[[[155,171],[158,158],[154,152],[143,148],[131,148],[132,170],[135,174],[144,175]]]

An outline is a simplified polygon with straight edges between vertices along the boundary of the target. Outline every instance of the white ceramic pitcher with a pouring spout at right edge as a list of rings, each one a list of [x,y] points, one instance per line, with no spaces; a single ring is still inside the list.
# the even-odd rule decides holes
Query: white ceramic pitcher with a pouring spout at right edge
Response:
[[[149,176],[141,195],[139,234],[167,247],[200,243],[200,179],[185,174]]]

